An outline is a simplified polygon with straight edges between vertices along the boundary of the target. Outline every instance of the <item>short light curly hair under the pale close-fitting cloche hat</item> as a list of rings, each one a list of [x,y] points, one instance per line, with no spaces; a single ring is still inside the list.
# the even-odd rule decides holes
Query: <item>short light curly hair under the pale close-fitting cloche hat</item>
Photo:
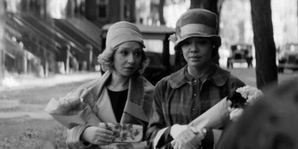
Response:
[[[115,47],[114,49],[111,47],[106,47],[106,49],[101,54],[98,55],[97,61],[101,65],[101,69],[104,72],[108,70],[112,72],[115,70],[113,55],[115,51],[118,49],[118,47],[119,46]],[[142,50],[141,64],[137,72],[139,74],[143,74],[145,69],[148,67],[148,65],[149,65],[149,60],[147,59],[145,52]]]

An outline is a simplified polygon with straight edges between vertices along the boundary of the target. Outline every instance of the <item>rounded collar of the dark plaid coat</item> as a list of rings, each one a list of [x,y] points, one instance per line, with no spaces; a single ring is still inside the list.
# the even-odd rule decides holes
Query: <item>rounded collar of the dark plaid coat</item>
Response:
[[[206,80],[210,80],[216,86],[223,86],[228,79],[230,72],[220,68],[218,65],[216,65],[215,67],[216,70],[214,74],[209,76]],[[187,65],[176,73],[170,75],[169,83],[172,88],[179,88],[183,84],[187,83],[187,80],[185,78],[185,69],[187,69]],[[206,80],[204,80],[204,82]]]

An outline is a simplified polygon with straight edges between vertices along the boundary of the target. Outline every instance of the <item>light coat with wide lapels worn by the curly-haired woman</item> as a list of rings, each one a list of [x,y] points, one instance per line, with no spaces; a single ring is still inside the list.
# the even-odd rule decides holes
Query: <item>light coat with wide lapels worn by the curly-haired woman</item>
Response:
[[[100,78],[81,85],[76,93],[83,102],[87,103],[92,112],[102,122],[116,123],[115,114],[112,109],[111,101],[105,87],[105,83],[110,78],[108,71]],[[129,89],[124,112],[120,123],[130,123],[142,125],[144,128],[143,141],[146,140],[146,131],[149,121],[149,113],[152,107],[154,86],[140,74],[135,74],[129,79]],[[87,90],[87,93],[85,92]],[[83,93],[84,92],[84,93]],[[95,145],[85,146],[80,140],[83,130],[89,125],[78,125],[68,130],[66,135],[67,146],[70,149],[95,149]],[[146,148],[146,142],[140,143],[142,148]],[[140,148],[136,144],[136,148]]]

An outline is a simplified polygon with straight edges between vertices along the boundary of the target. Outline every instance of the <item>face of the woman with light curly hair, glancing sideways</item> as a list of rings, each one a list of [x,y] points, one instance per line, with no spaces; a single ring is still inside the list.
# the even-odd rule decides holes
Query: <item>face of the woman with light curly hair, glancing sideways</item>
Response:
[[[120,44],[113,56],[115,72],[123,76],[134,74],[141,64],[142,51],[141,44],[136,41]]]

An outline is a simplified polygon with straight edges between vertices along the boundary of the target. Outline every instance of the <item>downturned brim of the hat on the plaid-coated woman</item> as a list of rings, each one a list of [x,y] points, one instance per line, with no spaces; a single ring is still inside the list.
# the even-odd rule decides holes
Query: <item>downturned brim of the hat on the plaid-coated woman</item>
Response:
[[[190,35],[185,35],[181,39],[177,39],[176,42],[175,42],[175,45],[174,45],[174,50],[175,51],[181,50],[180,43],[182,41],[184,41],[185,39],[190,38],[190,37],[210,38],[213,41],[213,43],[215,44],[216,47],[220,47],[222,45],[222,39],[221,39],[221,36],[219,36],[219,35],[211,35],[211,36],[209,36],[209,35],[202,35],[202,34],[190,34]]]

